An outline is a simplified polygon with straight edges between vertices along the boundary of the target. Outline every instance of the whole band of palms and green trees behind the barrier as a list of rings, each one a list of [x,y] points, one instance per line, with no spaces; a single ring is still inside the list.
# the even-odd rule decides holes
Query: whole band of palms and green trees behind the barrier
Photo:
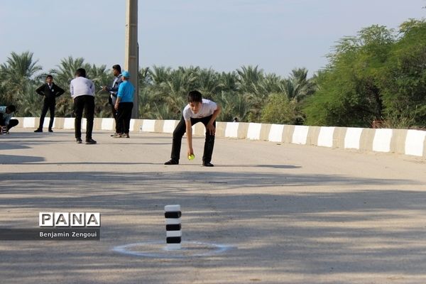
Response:
[[[180,119],[187,93],[198,89],[221,104],[219,121],[371,126],[375,120],[394,128],[426,124],[426,22],[410,19],[398,31],[373,25],[345,36],[328,55],[329,63],[313,77],[295,68],[288,77],[258,66],[232,72],[200,67],[143,67],[139,70],[138,107],[141,119]],[[48,72],[33,53],[11,53],[0,64],[0,102],[16,104],[19,116],[39,116],[43,99],[35,89],[52,74],[66,90],[57,99],[57,116],[73,116],[70,80],[84,67],[97,90],[97,117],[111,117],[109,94],[102,86],[113,76],[105,65],[84,58],[63,58]]]

